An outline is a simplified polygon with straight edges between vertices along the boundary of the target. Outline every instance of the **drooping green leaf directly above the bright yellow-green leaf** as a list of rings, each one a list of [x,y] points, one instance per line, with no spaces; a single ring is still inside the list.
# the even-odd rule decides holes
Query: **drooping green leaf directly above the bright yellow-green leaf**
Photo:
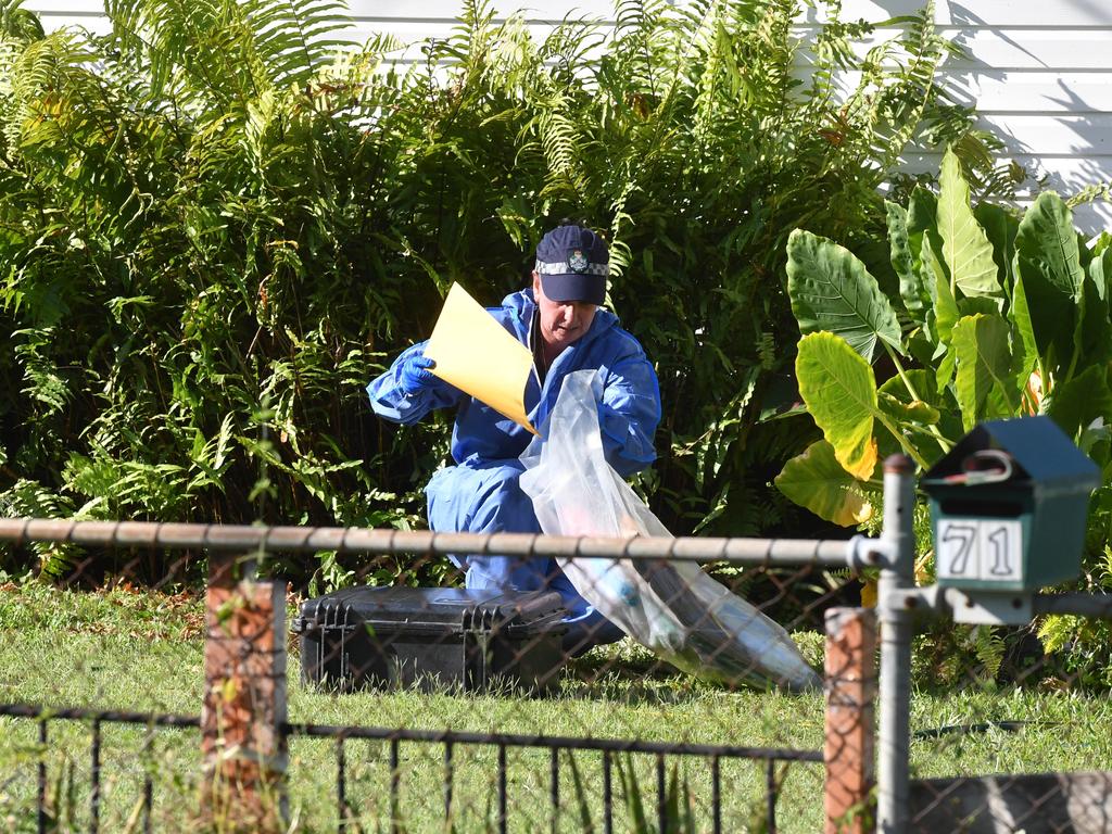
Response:
[[[888,299],[848,249],[796,229],[787,241],[787,294],[804,334],[830,331],[873,360],[877,339],[903,353]]]

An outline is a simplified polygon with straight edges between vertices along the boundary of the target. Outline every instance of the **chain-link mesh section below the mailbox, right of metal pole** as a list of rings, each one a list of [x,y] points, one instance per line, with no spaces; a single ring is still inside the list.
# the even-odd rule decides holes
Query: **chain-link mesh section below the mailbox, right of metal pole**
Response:
[[[920,622],[909,830],[1109,830],[1108,691],[1074,665],[1080,645],[1046,649],[1052,623]],[[1081,623],[1098,649],[1096,620]]]

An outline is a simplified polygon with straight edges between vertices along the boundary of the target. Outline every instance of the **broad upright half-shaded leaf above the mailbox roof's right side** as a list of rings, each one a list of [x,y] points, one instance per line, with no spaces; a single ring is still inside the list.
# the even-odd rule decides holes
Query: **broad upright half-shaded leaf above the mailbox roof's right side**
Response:
[[[1039,353],[1059,363],[1073,354],[1084,272],[1069,207],[1053,191],[1039,195],[1015,235],[1015,270],[1023,281]]]

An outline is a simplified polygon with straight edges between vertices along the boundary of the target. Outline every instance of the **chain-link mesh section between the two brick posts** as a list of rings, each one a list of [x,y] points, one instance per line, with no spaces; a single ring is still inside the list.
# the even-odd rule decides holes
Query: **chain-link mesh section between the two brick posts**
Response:
[[[845,570],[716,567],[727,586],[778,606],[812,661],[821,610],[853,593]],[[701,681],[634,641],[607,642],[605,625],[569,637],[566,616],[545,588],[518,596],[357,578],[353,589],[301,599],[291,772],[324,755],[304,736],[342,739],[332,813],[350,830],[383,820],[405,831],[821,826],[812,801],[822,790],[821,692]],[[354,719],[353,705],[366,718]],[[366,738],[369,725],[377,738]],[[790,813],[777,815],[785,804]]]

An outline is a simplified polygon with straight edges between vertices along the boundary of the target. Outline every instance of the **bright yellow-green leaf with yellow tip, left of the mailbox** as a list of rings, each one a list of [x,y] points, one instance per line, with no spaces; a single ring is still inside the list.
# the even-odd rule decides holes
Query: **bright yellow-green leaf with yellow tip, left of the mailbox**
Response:
[[[800,339],[795,375],[807,410],[834,447],[840,464],[865,479],[876,466],[873,417],[876,379],[870,364],[844,339],[813,332]]]

